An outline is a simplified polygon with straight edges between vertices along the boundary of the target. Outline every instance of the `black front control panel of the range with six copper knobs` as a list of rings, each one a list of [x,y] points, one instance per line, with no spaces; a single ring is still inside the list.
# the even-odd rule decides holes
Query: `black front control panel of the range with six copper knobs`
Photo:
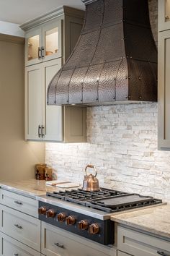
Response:
[[[113,221],[102,221],[45,202],[39,202],[38,216],[41,221],[99,242],[99,244],[114,244]]]

